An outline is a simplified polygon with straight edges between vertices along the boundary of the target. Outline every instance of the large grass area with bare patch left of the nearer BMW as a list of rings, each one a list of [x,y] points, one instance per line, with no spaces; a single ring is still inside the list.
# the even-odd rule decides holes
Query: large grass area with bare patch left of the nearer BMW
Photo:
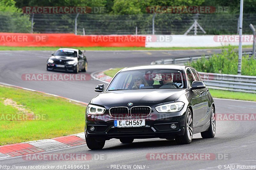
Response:
[[[84,131],[85,106],[50,95],[0,86],[0,114],[19,111],[5,106],[8,98],[27,110],[46,115],[45,120],[0,121],[0,145],[67,136]]]

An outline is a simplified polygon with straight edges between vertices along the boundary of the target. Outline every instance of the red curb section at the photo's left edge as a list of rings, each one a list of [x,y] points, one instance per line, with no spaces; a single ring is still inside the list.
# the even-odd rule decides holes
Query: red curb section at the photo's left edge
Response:
[[[11,157],[38,153],[38,152],[44,152],[44,150],[37,148],[31,144],[19,143],[19,144],[10,144],[10,145],[0,146],[0,153],[4,153]]]

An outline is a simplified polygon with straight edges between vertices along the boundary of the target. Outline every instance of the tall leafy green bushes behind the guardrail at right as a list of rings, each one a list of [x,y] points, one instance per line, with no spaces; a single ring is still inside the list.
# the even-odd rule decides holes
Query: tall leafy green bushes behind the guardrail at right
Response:
[[[198,71],[209,73],[222,74],[237,74],[238,53],[234,51],[233,47],[228,50],[223,49],[222,53],[214,54],[211,58],[202,58],[192,63],[191,65]],[[242,59],[242,75],[256,76],[256,59],[249,58],[248,55],[243,56]]]

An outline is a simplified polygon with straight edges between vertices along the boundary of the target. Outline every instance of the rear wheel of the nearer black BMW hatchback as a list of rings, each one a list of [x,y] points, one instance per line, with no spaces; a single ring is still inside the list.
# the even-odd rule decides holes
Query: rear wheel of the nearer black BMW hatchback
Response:
[[[215,110],[212,107],[211,117],[210,117],[210,127],[207,131],[201,132],[201,137],[203,138],[212,138],[216,133],[216,119],[215,119]]]

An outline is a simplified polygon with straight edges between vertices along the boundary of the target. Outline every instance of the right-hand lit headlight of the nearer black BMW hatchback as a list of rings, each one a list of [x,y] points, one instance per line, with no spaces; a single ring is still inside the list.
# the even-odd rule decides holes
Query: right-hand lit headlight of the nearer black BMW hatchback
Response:
[[[179,112],[183,108],[183,106],[184,106],[184,103],[179,101],[179,102],[157,106],[156,111],[157,112]]]

